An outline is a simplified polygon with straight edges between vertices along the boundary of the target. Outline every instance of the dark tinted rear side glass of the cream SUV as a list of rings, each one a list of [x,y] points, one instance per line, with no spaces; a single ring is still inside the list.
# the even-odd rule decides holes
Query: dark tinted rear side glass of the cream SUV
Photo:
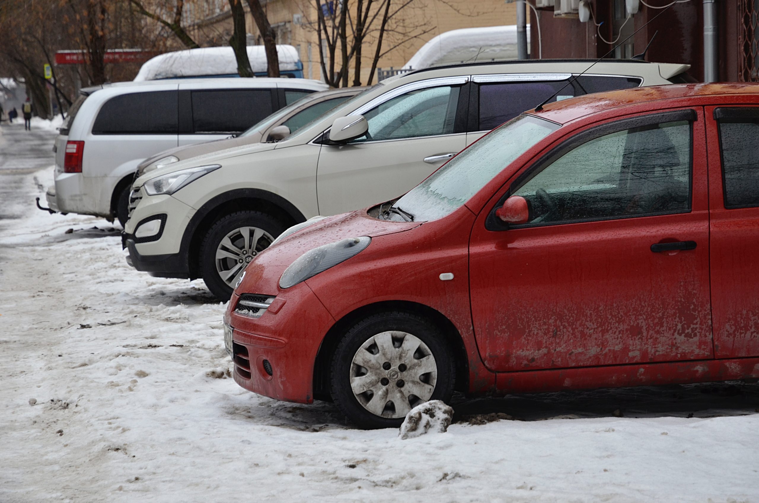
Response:
[[[548,96],[558,93],[548,103],[566,100],[583,94],[641,85],[640,78],[582,75],[572,84],[566,81],[499,82],[480,84],[480,126],[488,131],[514,119],[528,109],[534,109]],[[562,89],[563,87],[563,89]]]

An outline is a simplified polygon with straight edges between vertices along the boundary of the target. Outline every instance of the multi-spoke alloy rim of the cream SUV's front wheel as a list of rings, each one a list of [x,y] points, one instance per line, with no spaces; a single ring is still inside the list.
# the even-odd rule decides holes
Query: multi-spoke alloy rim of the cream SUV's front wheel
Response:
[[[234,287],[245,266],[272,244],[271,234],[258,227],[240,227],[228,233],[216,247],[216,272]]]

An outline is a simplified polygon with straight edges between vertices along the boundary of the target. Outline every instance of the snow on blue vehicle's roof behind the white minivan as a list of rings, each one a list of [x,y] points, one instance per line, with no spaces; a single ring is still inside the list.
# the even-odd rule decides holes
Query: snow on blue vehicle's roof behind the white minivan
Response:
[[[280,70],[298,70],[300,58],[298,50],[293,46],[277,46],[277,55]],[[254,72],[266,71],[266,52],[263,46],[247,46],[247,57]],[[134,81],[231,75],[237,72],[237,59],[231,47],[202,47],[157,55],[142,65]]]

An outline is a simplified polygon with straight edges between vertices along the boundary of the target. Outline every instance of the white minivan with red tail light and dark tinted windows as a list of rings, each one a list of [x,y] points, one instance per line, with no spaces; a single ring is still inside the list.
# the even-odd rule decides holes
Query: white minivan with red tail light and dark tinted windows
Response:
[[[55,140],[51,210],[128,218],[131,182],[146,157],[227,138],[323,82],[294,78],[208,78],[123,82],[82,90]]]

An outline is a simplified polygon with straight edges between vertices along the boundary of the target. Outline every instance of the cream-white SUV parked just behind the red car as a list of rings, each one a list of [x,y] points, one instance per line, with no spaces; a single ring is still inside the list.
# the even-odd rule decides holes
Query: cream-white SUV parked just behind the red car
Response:
[[[671,84],[688,65],[497,62],[389,78],[279,143],[173,163],[134,182],[128,261],[202,277],[228,299],[247,263],[289,226],[396,198],[485,132],[556,94]],[[199,180],[196,182],[196,180]]]

